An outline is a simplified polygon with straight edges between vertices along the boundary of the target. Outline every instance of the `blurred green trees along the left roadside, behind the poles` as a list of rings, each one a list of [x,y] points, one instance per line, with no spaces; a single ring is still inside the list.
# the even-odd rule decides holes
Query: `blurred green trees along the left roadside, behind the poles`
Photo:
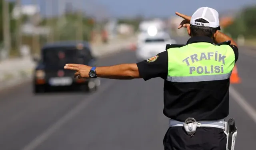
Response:
[[[15,6],[15,1],[9,2],[9,16],[10,16],[10,34],[11,34],[11,49],[10,55],[18,56],[19,51],[16,47],[16,20],[12,18],[12,11]],[[0,48],[3,47],[3,0],[0,0]],[[91,32],[94,29],[96,23],[92,18],[83,14],[82,24],[79,22],[78,12],[69,12],[65,16],[56,16],[53,18],[44,18],[39,22],[37,26],[48,26],[53,30],[54,40],[77,40],[77,31],[82,28],[83,40],[90,40]],[[25,22],[31,22],[31,16],[22,16],[21,25]],[[50,24],[48,24],[50,22]],[[33,40],[32,35],[22,35],[22,44],[28,45],[32,48],[32,53],[39,52],[40,46],[44,45],[47,41],[46,35],[40,35],[38,37],[38,42]]]

